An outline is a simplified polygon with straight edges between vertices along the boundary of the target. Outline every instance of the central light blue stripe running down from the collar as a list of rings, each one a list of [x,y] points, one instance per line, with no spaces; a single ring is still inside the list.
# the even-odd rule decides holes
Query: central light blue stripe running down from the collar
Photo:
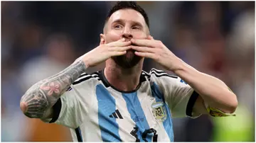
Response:
[[[137,132],[138,138],[139,138],[140,142],[144,142],[144,140],[142,139],[142,133],[145,130],[149,129],[149,124],[144,115],[142,105],[139,102],[137,92],[122,93],[122,96],[127,103],[127,109],[131,115],[132,120],[134,120],[136,127],[138,127],[138,132]],[[150,135],[152,135],[152,134],[150,134]],[[146,140],[148,142],[151,142],[151,137],[149,137],[150,135],[146,136]],[[135,142],[135,140],[134,140],[134,142]]]

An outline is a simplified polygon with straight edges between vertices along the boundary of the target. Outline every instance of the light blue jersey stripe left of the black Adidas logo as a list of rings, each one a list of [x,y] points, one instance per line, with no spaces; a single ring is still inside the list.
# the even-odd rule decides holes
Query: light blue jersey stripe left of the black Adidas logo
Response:
[[[116,110],[114,98],[102,84],[96,86],[96,95],[98,101],[98,121],[102,141],[121,142],[122,140],[120,139],[118,132],[119,126],[116,119],[109,117]]]

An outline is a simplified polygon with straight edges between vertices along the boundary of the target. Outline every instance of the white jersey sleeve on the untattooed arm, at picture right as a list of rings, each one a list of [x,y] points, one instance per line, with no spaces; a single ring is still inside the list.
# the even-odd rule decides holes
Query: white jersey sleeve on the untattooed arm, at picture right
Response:
[[[174,118],[191,117],[193,115],[193,105],[196,103],[198,93],[178,76],[171,76],[166,72],[151,69],[151,79],[159,86],[159,90],[164,94],[164,99],[168,103],[171,115]]]

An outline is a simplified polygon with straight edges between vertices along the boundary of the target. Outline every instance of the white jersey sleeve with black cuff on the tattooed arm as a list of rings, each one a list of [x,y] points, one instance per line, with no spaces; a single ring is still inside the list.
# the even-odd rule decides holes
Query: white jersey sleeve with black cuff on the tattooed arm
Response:
[[[88,77],[90,76],[75,81],[53,105],[53,118],[43,122],[54,122],[70,128],[79,127],[89,113],[88,110],[93,104],[92,98],[95,98],[93,85],[97,84],[98,80]]]

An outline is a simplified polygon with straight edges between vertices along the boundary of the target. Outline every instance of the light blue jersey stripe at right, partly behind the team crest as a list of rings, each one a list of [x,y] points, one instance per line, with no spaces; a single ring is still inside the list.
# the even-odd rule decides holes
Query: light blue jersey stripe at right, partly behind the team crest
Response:
[[[156,102],[159,102],[159,101],[164,102],[164,95],[159,90],[159,86],[153,83],[153,85],[151,86],[151,91],[154,98],[156,98]],[[164,107],[166,108],[166,112],[167,112],[167,118],[163,122],[164,129],[166,130],[166,133],[169,136],[170,141],[174,142],[174,130],[171,122],[171,112],[170,112],[169,106],[166,103],[164,103]]]

